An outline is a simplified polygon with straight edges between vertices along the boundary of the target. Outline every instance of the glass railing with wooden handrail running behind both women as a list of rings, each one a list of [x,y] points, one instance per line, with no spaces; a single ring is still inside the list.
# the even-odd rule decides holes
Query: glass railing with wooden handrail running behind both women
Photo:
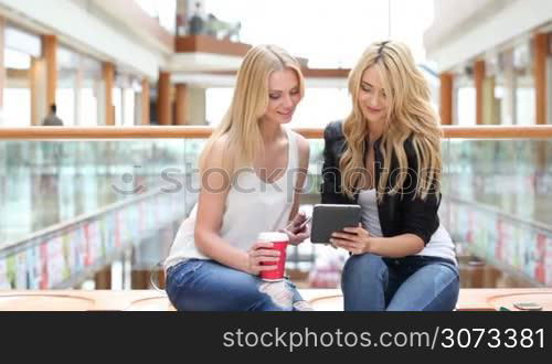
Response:
[[[43,130],[0,131],[0,289],[150,288],[151,270],[162,287],[156,265],[197,202],[209,130],[64,131],[73,140]],[[300,201],[309,212],[320,201],[323,140],[319,129],[299,131],[311,151]],[[453,128],[442,144],[439,215],[463,286],[552,286],[552,138],[487,136]],[[300,287],[339,287],[347,257],[307,242],[289,248],[288,271]]]

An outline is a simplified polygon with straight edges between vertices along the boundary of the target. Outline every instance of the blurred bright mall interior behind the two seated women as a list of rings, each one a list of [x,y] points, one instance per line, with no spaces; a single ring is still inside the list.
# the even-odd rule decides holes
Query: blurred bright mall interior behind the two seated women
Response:
[[[323,128],[350,108],[363,47],[393,38],[443,125],[546,125],[551,31],[548,0],[0,0],[0,289],[162,287],[157,264],[197,201],[204,138],[2,140],[50,104],[64,127],[215,126],[245,52],[276,43],[307,77],[291,126]],[[306,211],[323,141],[310,148]],[[551,151],[545,138],[443,140],[439,215],[463,287],[552,286]],[[288,271],[339,287],[346,257],[306,243]]]

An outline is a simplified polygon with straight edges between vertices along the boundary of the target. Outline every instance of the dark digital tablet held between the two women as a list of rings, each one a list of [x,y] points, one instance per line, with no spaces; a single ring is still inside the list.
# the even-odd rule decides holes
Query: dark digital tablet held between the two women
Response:
[[[346,227],[359,226],[360,221],[359,205],[317,204],[312,210],[310,242],[329,244],[331,234]]]

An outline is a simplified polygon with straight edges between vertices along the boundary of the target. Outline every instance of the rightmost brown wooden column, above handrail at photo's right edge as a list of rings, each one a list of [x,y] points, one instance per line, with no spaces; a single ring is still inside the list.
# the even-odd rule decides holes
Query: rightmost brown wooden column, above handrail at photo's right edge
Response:
[[[546,57],[549,54],[548,34],[535,34],[534,46],[534,92],[535,92],[535,124],[546,124]]]

